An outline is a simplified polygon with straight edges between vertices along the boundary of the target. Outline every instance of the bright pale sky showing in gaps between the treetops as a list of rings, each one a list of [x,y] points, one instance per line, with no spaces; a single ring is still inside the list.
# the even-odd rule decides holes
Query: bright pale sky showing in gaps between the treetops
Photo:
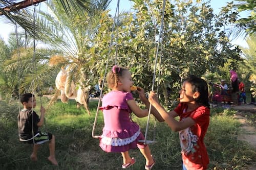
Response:
[[[211,0],[210,5],[214,9],[214,13],[218,13],[221,9],[221,7],[225,6],[227,2],[231,2],[232,0]],[[113,0],[110,4],[109,9],[111,9],[110,14],[112,16],[115,16],[116,8],[117,8],[117,2],[118,0]],[[44,2],[41,4],[45,4]],[[43,8],[44,5],[41,5],[42,7],[37,6],[37,8]],[[120,0],[119,3],[119,12],[121,11],[130,11],[132,9],[132,2],[129,0]],[[242,16],[248,15],[248,12],[242,13]],[[9,21],[10,22],[10,21]],[[4,38],[4,40],[8,41],[8,35],[14,32],[14,25],[12,23],[8,23],[6,20],[6,17],[3,15],[0,15],[0,36]],[[243,39],[237,39],[235,41],[232,41],[233,44],[238,44],[242,46],[245,45],[245,41]]]

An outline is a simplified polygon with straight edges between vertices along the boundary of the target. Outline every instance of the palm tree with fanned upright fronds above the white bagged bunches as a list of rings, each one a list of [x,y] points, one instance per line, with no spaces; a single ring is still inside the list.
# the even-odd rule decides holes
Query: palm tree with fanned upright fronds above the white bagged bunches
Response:
[[[93,4],[90,8],[93,13],[88,13],[82,8],[69,6],[66,9],[63,8],[63,5],[67,6],[66,3],[50,1],[47,5],[51,13],[40,11],[36,16],[35,24],[40,28],[38,33],[40,40],[52,48],[60,50],[63,54],[52,56],[50,64],[66,68],[68,72],[65,85],[66,94],[69,93],[69,87],[73,80],[77,87],[82,87],[84,98],[87,99],[89,96],[89,90],[95,77],[92,72],[95,59],[89,55],[89,51],[93,38],[97,34],[99,18],[102,12],[108,8],[109,2],[107,0],[97,1],[98,4]],[[31,13],[28,16],[33,17]],[[83,104],[90,114],[87,102]]]

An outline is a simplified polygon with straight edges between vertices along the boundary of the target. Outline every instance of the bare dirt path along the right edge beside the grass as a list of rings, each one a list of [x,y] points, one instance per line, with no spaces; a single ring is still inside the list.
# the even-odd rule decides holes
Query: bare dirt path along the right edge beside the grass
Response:
[[[256,106],[255,105],[241,105],[233,107],[233,109],[238,112],[234,115],[234,118],[238,119],[238,121],[242,124],[241,132],[238,135],[238,140],[246,141],[251,148],[256,151],[256,128],[255,123],[249,123],[246,119],[245,115],[248,114],[256,114]],[[248,166],[249,170],[256,170],[256,162],[252,165]]]

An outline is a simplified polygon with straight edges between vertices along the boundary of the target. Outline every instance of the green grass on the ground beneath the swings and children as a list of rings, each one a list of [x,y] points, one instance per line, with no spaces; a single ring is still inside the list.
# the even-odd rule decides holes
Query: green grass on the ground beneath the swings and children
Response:
[[[37,99],[38,101],[38,99]],[[43,103],[48,100],[43,98]],[[39,102],[38,102],[39,103]],[[97,102],[90,102],[92,115],[76,108],[74,101],[68,104],[55,103],[47,109],[46,126],[41,131],[49,131],[56,136],[56,157],[58,169],[120,169],[122,157],[119,153],[105,153],[91,137]],[[18,141],[16,116],[18,107],[15,101],[0,101],[0,169],[56,169],[47,160],[48,144],[42,144],[38,151],[38,162],[31,162],[29,156],[32,145]],[[39,110],[39,104],[35,109]],[[211,110],[210,126],[205,143],[210,157],[209,169],[247,169],[246,166],[256,160],[255,150],[248,144],[237,140],[240,123],[232,118],[234,110],[216,108]],[[38,112],[39,113],[39,112]],[[133,116],[144,131],[146,118]],[[151,119],[148,139],[153,139]],[[103,118],[99,113],[95,135],[103,127]],[[172,132],[165,123],[157,123],[157,143],[150,144],[156,158],[154,169],[181,169],[181,154],[178,133]],[[139,150],[131,150],[136,164],[130,169],[144,169],[145,160]]]

